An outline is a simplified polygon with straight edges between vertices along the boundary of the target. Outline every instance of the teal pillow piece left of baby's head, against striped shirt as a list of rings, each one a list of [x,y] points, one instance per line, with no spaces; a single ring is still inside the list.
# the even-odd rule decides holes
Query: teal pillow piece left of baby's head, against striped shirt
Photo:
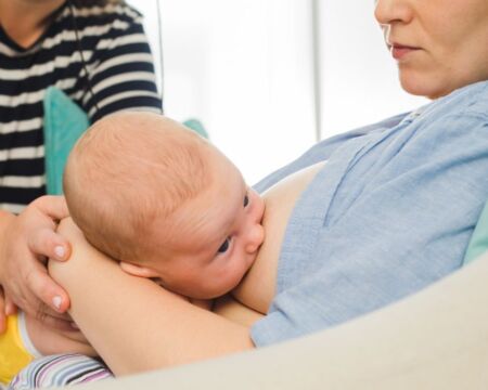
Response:
[[[46,186],[49,195],[61,195],[67,156],[90,126],[90,120],[75,102],[55,87],[46,91],[43,106]]]

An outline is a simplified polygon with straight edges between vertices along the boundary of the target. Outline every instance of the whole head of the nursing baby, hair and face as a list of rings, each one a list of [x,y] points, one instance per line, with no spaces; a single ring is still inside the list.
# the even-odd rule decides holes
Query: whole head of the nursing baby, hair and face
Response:
[[[192,298],[237,285],[264,239],[264,202],[235,166],[156,114],[94,123],[69,155],[64,192],[93,246],[125,271]]]

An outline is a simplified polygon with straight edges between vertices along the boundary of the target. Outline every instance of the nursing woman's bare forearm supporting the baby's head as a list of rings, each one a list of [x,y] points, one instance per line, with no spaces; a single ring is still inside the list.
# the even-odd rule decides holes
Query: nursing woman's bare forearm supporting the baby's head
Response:
[[[73,318],[116,375],[253,348],[248,327],[124,273],[70,219],[59,231],[73,252],[65,263],[51,261],[50,273],[68,291]]]

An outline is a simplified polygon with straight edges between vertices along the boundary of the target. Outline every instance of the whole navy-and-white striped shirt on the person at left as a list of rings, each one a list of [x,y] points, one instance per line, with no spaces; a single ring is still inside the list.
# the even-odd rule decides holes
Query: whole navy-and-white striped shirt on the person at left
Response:
[[[20,212],[46,194],[42,100],[50,86],[63,90],[91,121],[120,109],[160,112],[141,14],[107,4],[76,6],[73,17],[65,3],[28,49],[0,26],[0,209]]]

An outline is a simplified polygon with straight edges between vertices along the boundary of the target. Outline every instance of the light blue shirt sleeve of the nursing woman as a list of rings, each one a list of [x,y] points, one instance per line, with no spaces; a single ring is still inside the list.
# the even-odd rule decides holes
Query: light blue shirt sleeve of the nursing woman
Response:
[[[406,133],[360,176],[358,161],[349,166],[326,214],[310,216],[316,231],[308,220],[290,221],[277,296],[252,329],[256,346],[338,325],[461,266],[488,196],[488,120],[477,116],[446,116]],[[320,183],[308,190],[301,203],[313,210],[323,202]]]

